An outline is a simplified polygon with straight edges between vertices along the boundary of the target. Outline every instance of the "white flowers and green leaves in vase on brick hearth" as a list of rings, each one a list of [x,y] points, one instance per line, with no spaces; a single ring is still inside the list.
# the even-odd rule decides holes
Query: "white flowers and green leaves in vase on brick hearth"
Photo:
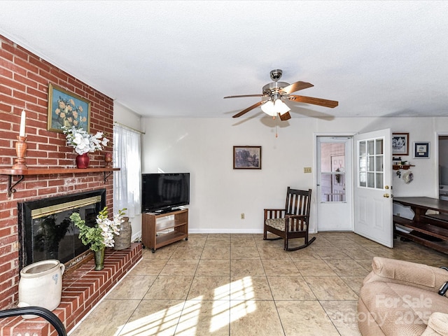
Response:
[[[90,228],[77,212],[70,215],[70,219],[77,228],[79,228],[79,238],[84,245],[89,245],[92,251],[100,251],[105,247],[113,247],[115,241],[113,235],[120,235],[120,225],[123,223],[126,208],[113,215],[113,219],[108,218],[107,207],[99,211],[96,225]]]

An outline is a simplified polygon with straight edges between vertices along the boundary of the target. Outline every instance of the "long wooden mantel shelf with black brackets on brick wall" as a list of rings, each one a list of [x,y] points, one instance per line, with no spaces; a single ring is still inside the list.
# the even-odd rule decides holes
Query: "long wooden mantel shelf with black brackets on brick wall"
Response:
[[[118,172],[120,168],[29,168],[29,169],[13,169],[13,168],[0,168],[0,175],[8,175],[8,197],[15,193],[15,186],[20,183],[25,176],[31,175],[54,175],[54,174],[85,174],[85,173],[103,173],[104,183],[107,178],[111,176],[113,172]],[[18,180],[13,183],[13,176],[17,176]]]

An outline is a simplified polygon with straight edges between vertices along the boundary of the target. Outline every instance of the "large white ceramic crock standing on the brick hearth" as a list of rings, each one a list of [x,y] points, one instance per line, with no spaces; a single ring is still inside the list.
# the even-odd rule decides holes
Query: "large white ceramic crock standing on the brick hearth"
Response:
[[[38,306],[50,311],[56,309],[61,303],[64,270],[64,264],[55,259],[42,260],[23,267],[20,271],[18,307]]]

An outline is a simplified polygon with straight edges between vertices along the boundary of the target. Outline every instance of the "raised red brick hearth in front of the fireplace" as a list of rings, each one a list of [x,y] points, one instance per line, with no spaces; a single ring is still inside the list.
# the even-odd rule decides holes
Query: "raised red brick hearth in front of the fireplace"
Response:
[[[89,260],[62,280],[62,300],[53,313],[64,323],[67,332],[106,295],[113,286],[141,259],[141,244],[115,251],[106,249],[104,269],[94,270]],[[55,336],[56,330],[43,318],[25,320],[22,317],[3,318],[0,335]]]

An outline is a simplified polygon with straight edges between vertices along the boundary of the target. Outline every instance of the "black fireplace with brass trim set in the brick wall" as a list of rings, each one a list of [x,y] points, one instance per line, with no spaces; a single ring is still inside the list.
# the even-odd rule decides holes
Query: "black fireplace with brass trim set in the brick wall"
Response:
[[[76,211],[90,227],[106,206],[106,189],[18,203],[20,269],[33,262],[57,259],[73,267],[89,253],[70,220]]]

